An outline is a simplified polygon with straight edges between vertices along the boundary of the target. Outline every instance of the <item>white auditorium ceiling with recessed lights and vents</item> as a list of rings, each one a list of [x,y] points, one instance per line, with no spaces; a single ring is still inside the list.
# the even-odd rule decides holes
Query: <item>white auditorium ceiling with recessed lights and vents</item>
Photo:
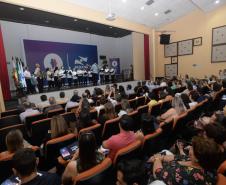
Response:
[[[173,22],[178,18],[189,14],[193,10],[200,9],[204,12],[212,11],[219,6],[226,4],[226,0],[154,0],[154,3],[147,6],[148,0],[64,0],[104,12],[110,11],[117,17],[158,28],[164,24]],[[144,6],[144,10],[141,7]],[[165,15],[164,12],[170,9],[172,12]],[[158,16],[155,16],[158,13]]]

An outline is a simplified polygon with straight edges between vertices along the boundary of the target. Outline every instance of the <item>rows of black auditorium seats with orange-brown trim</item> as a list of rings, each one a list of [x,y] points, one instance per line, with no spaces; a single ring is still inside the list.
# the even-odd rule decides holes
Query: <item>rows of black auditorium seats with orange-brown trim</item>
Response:
[[[157,93],[163,90],[164,87],[159,87],[153,90]],[[180,87],[174,90],[174,93],[181,93],[186,87]],[[120,161],[129,158],[145,159],[151,155],[160,152],[162,149],[169,149],[178,138],[190,139],[187,126],[190,122],[197,120],[201,115],[209,112],[218,110],[219,102],[225,90],[219,91],[214,99],[206,99],[191,109],[188,109],[185,113],[176,117],[175,119],[166,120],[165,122],[159,123],[159,128],[150,134],[144,136],[143,143],[136,141],[125,148],[119,150],[113,161],[109,158],[99,165],[80,173],[74,178],[76,185],[97,185],[97,184],[115,184],[116,177],[114,167]],[[171,108],[172,100],[163,100],[149,108],[147,105],[149,99],[146,96],[136,97],[135,94],[129,95],[129,104],[133,109],[128,115],[134,120],[134,131],[141,129],[141,115],[143,113],[150,113],[152,116],[157,117],[168,109]],[[65,104],[62,104],[65,107]],[[22,124],[19,118],[19,111],[17,109],[9,110],[1,113],[0,118],[0,151],[6,150],[5,136],[12,129],[19,129],[22,131],[24,138],[34,146],[41,146],[45,137],[48,135],[50,130],[51,119],[55,115],[62,115],[66,122],[76,122],[78,120],[77,115],[73,109],[78,107],[68,108],[67,112],[65,109],[57,109],[49,111],[47,115],[40,113],[34,116],[26,118],[25,123]],[[115,112],[118,113],[121,110],[121,104],[118,103],[115,106]],[[41,169],[49,170],[54,166],[59,165],[59,150],[78,140],[81,133],[85,131],[93,131],[95,134],[97,145],[100,146],[102,141],[110,138],[112,135],[120,132],[119,122],[120,117],[108,120],[101,125],[98,123],[99,117],[105,113],[104,109],[101,109],[99,115],[95,109],[90,110],[91,118],[96,122],[87,127],[79,130],[76,133],[70,133],[62,137],[51,139],[43,146],[44,162],[41,165]],[[62,161],[62,160],[61,160]],[[61,163],[62,164],[62,163]],[[66,164],[66,163],[65,163]],[[218,170],[218,183],[217,185],[226,184],[226,178],[222,174],[226,172],[226,163],[222,164]],[[0,182],[9,177],[12,172],[10,169],[10,159],[0,161]],[[4,173],[2,172],[4,171]]]

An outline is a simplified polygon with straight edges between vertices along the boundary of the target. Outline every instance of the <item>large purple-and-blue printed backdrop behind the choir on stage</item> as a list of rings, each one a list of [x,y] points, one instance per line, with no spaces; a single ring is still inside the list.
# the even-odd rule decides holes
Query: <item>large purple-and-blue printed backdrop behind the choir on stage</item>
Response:
[[[31,72],[34,72],[36,63],[40,64],[42,71],[47,67],[84,68],[98,63],[97,46],[94,45],[37,40],[23,40],[23,44],[26,63]]]

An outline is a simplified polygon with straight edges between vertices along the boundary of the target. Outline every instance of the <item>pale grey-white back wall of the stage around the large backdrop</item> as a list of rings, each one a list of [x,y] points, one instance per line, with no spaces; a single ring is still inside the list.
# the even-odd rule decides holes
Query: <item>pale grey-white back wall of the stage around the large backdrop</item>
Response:
[[[24,60],[23,39],[97,45],[98,56],[105,55],[108,58],[120,58],[121,69],[126,69],[133,63],[131,35],[122,38],[103,37],[89,33],[8,21],[0,21],[0,25],[3,34],[6,60],[8,62],[11,90],[15,89],[14,82],[11,78],[11,58],[12,56],[17,56]]]

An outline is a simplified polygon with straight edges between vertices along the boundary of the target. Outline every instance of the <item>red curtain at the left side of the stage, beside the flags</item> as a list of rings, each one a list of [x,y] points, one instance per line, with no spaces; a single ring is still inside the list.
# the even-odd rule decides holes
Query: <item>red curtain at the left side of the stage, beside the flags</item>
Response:
[[[2,94],[4,100],[10,100],[9,76],[6,63],[5,49],[3,44],[2,30],[0,25],[0,82],[2,85]]]

